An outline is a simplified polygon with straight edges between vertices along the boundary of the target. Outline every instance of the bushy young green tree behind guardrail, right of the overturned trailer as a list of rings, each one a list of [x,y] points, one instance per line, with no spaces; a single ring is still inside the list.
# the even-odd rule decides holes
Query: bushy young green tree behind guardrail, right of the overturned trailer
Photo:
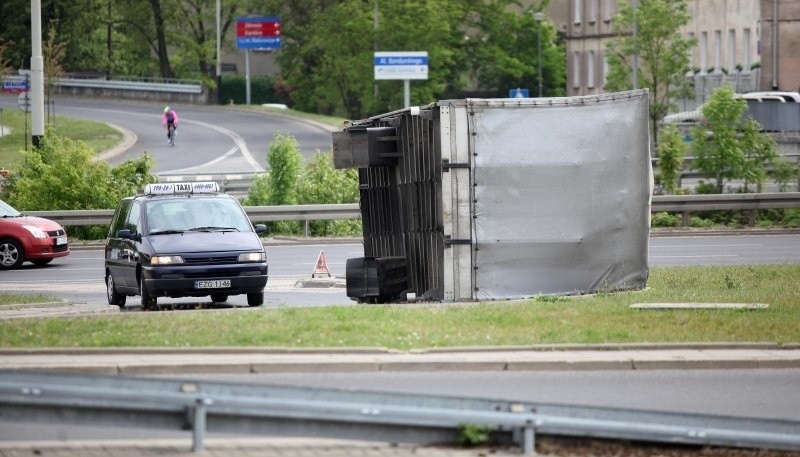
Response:
[[[729,85],[714,90],[702,106],[702,121],[692,130],[694,167],[711,179],[718,193],[726,180],[744,180],[760,185],[766,178],[766,164],[777,158],[774,140],[762,133],[761,125],[744,119],[747,102],[734,95]]]

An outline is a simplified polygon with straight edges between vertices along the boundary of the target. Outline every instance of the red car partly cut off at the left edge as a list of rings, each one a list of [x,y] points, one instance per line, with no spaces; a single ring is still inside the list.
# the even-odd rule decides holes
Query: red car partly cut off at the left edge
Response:
[[[25,261],[47,265],[66,255],[67,232],[58,222],[24,216],[0,200],[0,270],[18,268]]]

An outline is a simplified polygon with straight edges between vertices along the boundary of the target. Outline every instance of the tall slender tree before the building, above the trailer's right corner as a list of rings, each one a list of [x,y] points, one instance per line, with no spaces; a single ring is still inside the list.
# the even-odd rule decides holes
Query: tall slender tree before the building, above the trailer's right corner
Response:
[[[688,93],[684,75],[689,70],[689,51],[697,40],[682,38],[680,29],[690,19],[686,0],[639,0],[635,10],[624,2],[613,21],[617,36],[607,47],[605,87],[610,91],[633,89],[635,55],[637,86],[650,91],[650,129],[656,144],[659,120],[673,106],[672,100]]]

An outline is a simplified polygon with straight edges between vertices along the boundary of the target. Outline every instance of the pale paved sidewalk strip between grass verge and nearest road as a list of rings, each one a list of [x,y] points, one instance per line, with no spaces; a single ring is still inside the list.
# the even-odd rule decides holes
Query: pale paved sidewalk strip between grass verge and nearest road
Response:
[[[800,344],[380,348],[0,349],[0,370],[109,375],[377,371],[800,368]]]

